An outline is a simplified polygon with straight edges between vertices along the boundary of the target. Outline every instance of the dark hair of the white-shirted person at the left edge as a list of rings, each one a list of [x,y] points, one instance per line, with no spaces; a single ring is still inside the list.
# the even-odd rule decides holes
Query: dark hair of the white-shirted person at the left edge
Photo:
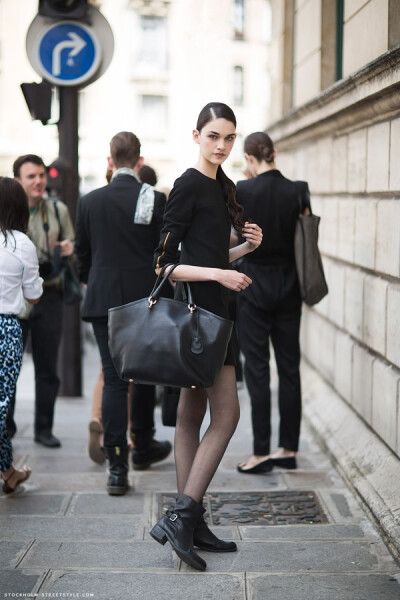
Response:
[[[28,197],[18,181],[10,177],[0,177],[0,231],[4,235],[12,229],[26,233],[29,223]]]

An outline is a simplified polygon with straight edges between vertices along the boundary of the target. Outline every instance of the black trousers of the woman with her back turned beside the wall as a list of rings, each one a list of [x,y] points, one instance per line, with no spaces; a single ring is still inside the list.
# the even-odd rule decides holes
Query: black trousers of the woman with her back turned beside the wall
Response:
[[[252,407],[253,452],[270,453],[270,340],[279,377],[279,446],[296,452],[301,420],[301,297],[295,268],[244,264],[241,271],[253,280],[239,295],[237,323]]]

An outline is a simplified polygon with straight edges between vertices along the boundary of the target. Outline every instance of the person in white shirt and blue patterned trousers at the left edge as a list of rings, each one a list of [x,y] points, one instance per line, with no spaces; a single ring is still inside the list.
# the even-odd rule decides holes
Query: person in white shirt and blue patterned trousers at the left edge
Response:
[[[22,363],[22,331],[18,313],[24,298],[39,302],[43,279],[39,276],[36,249],[25,235],[28,229],[28,198],[22,186],[0,177],[0,472],[3,492],[14,493],[31,470],[13,466],[13,452],[6,418]]]

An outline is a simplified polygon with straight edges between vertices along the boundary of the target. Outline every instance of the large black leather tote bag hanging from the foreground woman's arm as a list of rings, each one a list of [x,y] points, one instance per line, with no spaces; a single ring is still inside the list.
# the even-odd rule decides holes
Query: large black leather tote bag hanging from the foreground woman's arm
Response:
[[[161,273],[149,298],[108,311],[109,348],[121,379],[171,387],[211,387],[224,364],[233,322],[194,303],[160,296]]]

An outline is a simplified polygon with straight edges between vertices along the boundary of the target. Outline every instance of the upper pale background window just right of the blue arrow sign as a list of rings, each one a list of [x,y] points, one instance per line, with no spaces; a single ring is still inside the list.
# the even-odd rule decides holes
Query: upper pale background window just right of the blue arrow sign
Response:
[[[167,19],[141,15],[138,62],[152,71],[167,69]]]

